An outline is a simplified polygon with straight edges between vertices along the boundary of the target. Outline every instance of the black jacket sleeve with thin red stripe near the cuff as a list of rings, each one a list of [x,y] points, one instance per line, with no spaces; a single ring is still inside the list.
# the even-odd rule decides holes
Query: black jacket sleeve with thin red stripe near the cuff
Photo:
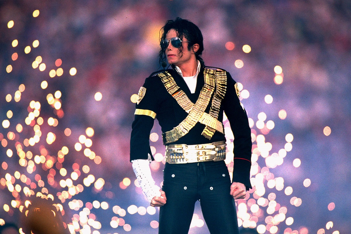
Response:
[[[251,169],[251,129],[245,109],[240,105],[236,93],[235,81],[227,72],[227,91],[224,96],[224,112],[229,120],[234,135],[233,182],[240,182],[246,189],[252,188]]]

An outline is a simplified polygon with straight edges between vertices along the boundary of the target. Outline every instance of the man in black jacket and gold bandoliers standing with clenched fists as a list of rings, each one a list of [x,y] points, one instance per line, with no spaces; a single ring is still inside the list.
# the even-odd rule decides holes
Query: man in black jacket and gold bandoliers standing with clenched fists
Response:
[[[236,82],[223,69],[204,66],[203,37],[188,20],[162,28],[160,62],[172,69],[151,74],[139,90],[132,125],[130,159],[151,206],[160,207],[159,233],[188,233],[194,204],[211,234],[239,233],[233,199],[251,188],[251,131]],[[225,112],[234,135],[230,181],[225,159]],[[166,146],[162,190],[150,172],[150,131],[157,118]]]

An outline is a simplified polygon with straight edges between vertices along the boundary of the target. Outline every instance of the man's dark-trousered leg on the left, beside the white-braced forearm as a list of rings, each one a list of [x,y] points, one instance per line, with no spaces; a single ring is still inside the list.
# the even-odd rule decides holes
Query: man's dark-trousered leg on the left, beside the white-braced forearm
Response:
[[[189,231],[197,201],[197,185],[190,180],[192,171],[183,166],[165,168],[162,190],[167,202],[160,207],[159,234],[187,234]]]

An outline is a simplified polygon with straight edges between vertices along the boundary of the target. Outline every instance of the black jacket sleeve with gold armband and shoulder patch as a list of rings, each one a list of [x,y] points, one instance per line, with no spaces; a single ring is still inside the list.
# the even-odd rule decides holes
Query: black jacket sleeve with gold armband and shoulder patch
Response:
[[[148,77],[144,85],[139,90],[139,99],[135,105],[134,121],[132,123],[132,133],[130,141],[130,160],[148,159],[150,150],[150,132],[154,124],[157,113],[157,92],[153,80]]]

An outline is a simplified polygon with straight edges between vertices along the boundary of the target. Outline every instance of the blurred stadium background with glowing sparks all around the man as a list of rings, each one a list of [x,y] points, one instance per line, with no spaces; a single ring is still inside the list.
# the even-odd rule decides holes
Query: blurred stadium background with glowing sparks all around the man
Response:
[[[129,137],[133,94],[160,68],[159,30],[177,16],[201,29],[205,64],[242,85],[254,189],[237,201],[239,225],[348,233],[347,0],[2,0],[0,225],[21,227],[29,202],[42,197],[71,233],[157,233],[158,209],[135,182]],[[160,133],[155,121],[158,185]],[[199,205],[190,233],[208,233]]]

